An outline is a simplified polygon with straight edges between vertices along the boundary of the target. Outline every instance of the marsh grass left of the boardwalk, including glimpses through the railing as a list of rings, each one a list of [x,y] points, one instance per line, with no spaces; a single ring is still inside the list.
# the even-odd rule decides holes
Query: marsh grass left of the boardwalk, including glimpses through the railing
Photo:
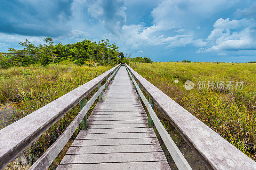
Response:
[[[1,119],[1,128],[25,117],[106,72],[110,68],[112,68],[112,66],[97,66],[96,68],[92,68],[76,65],[50,65],[48,67],[33,66],[11,67],[5,70],[0,69],[0,102],[20,103],[16,111],[5,118],[8,119],[8,121],[4,120],[4,118]],[[96,91],[97,88],[86,96],[86,101],[88,101]],[[96,103],[97,101],[92,105],[89,114]],[[7,169],[28,169],[28,167],[33,165],[72,122],[79,111],[79,104],[77,104],[32,143],[26,151],[21,153],[15,161],[10,163]],[[79,125],[72,138],[76,137],[80,129],[81,127]],[[58,164],[60,161],[61,159],[57,158],[54,162]]]

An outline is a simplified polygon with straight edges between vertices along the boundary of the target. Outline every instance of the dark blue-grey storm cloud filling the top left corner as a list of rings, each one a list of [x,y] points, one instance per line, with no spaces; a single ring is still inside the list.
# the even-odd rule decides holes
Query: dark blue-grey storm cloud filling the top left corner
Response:
[[[0,32],[57,37],[71,30],[73,0],[2,0]]]

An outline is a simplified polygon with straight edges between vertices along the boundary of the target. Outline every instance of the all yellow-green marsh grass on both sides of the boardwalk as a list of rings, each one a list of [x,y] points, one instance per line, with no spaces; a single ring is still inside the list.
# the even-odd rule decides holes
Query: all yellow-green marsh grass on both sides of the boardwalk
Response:
[[[153,62],[132,64],[131,67],[204,124],[256,160],[256,64]],[[47,67],[0,69],[0,102],[19,103],[16,113],[7,117],[7,121],[2,119],[1,127],[32,113],[110,68],[112,66],[95,68],[73,64],[52,64]],[[187,80],[195,83],[195,89],[185,89],[184,84]],[[206,81],[206,88],[208,81],[244,81],[244,84],[242,90],[197,90],[198,81]],[[86,100],[90,97],[91,95],[88,95]],[[78,112],[77,105],[28,148],[25,153],[25,157],[29,158],[27,167],[32,165],[60,136]],[[160,110],[156,112],[173,140],[182,149],[181,137],[173,132],[168,120],[159,114]],[[80,127],[77,131],[79,129]],[[76,134],[77,132],[74,136]],[[184,148],[186,150],[186,146]],[[188,152],[185,154],[190,155]],[[59,161],[56,160],[55,163],[58,164]],[[18,160],[18,163],[20,162]],[[17,164],[10,164],[9,169],[17,169]]]

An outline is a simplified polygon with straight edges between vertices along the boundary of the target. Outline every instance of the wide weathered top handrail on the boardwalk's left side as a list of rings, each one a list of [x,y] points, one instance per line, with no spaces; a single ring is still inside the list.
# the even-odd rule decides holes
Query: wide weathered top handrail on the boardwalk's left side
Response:
[[[1,129],[0,143],[3,147],[0,149],[0,168],[8,165],[119,66]]]

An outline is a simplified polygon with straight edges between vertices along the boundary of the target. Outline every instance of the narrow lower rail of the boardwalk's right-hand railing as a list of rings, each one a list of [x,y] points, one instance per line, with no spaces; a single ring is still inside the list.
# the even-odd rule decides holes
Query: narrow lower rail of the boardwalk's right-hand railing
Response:
[[[187,160],[184,158],[182,153],[180,152],[179,148],[176,146],[166,129],[164,128],[163,124],[160,122],[158,117],[156,116],[156,113],[154,109],[152,108],[151,104],[148,102],[147,98],[143,95],[142,91],[140,90],[140,87],[136,83],[135,79],[132,77],[131,73],[128,71],[128,68],[126,67],[127,72],[129,76],[132,78],[133,82],[133,87],[135,87],[138,91],[138,96],[140,96],[141,100],[145,104],[148,113],[149,113],[149,118],[148,118],[148,124],[150,124],[150,119],[153,121],[153,123],[156,126],[156,130],[160,134],[162,140],[164,141],[164,144],[169,151],[169,153],[172,156],[172,159],[174,160],[176,166],[178,169],[182,170],[192,170],[192,168],[189,166]]]

